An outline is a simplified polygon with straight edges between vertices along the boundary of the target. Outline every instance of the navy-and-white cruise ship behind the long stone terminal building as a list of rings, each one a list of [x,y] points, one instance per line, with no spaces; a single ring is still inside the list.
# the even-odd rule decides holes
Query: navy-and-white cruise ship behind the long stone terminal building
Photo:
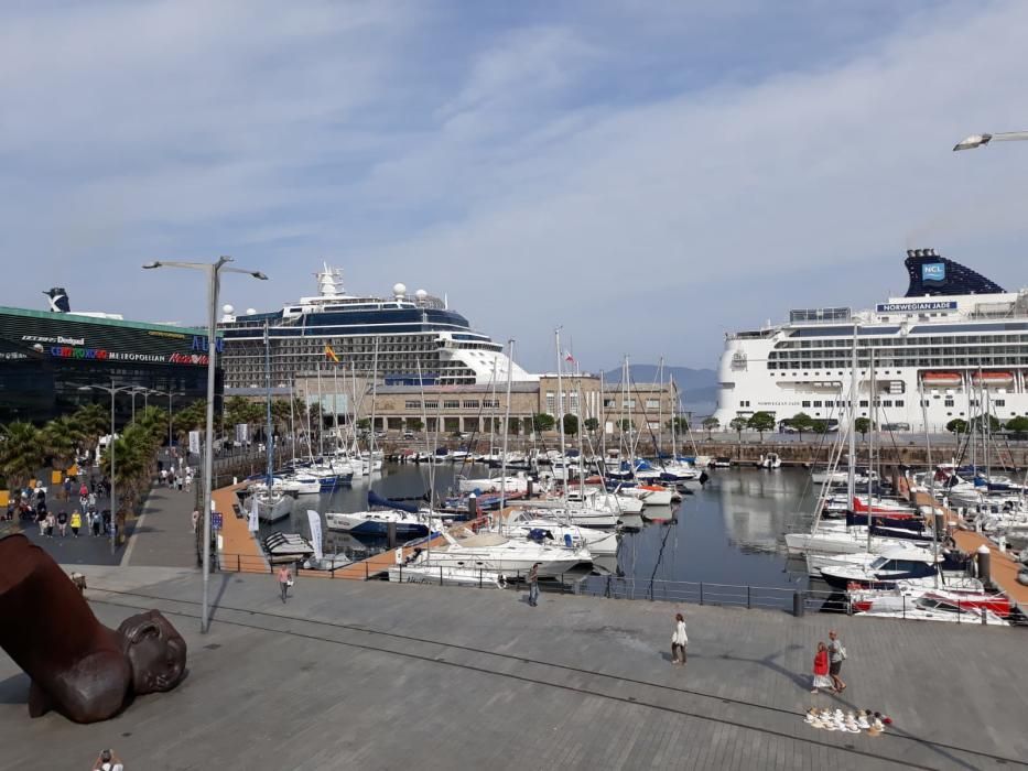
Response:
[[[226,389],[261,387],[266,355],[274,384],[333,366],[374,372],[387,384],[506,382],[508,368],[513,382],[538,380],[424,290],[408,294],[396,284],[388,297],[356,295],[346,292],[338,268],[325,264],[315,275],[318,293],[281,310],[237,315],[225,306],[218,329]]]

